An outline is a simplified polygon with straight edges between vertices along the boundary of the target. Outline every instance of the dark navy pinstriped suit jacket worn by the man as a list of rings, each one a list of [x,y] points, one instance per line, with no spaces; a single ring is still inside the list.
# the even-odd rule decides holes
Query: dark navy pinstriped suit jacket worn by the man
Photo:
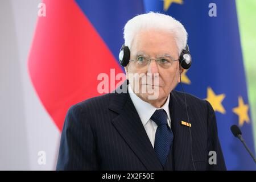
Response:
[[[129,93],[109,93],[68,110],[56,169],[193,170],[194,162],[196,170],[225,170],[212,106],[191,94],[186,98],[192,147],[189,127],[181,125],[188,121],[184,94],[172,90],[169,107],[174,143],[164,167]],[[216,151],[217,164],[209,164],[209,151]]]

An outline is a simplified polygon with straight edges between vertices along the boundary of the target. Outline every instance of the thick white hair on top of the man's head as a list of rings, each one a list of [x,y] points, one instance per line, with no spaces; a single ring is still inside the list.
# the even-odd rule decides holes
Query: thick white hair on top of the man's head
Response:
[[[125,46],[131,48],[134,36],[141,30],[151,28],[167,31],[174,35],[179,54],[185,48],[188,34],[184,26],[172,16],[154,12],[134,16],[125,24],[123,30]]]

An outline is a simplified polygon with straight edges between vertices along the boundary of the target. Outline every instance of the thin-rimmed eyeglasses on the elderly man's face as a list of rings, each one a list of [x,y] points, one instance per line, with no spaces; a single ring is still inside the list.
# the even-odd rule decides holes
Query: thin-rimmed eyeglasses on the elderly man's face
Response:
[[[158,57],[156,59],[150,59],[147,56],[137,56],[136,60],[130,60],[130,61],[134,61],[136,67],[138,68],[144,68],[147,67],[148,65],[150,65],[151,60],[155,60],[156,63],[162,67],[162,68],[170,68],[177,60],[172,59],[171,56],[162,56],[162,57]]]

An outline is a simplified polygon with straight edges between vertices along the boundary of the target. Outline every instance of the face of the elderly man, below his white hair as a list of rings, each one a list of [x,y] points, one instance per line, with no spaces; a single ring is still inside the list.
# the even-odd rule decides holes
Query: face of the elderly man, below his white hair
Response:
[[[159,57],[171,57],[172,60],[179,59],[178,49],[175,42],[174,36],[170,32],[162,31],[162,30],[143,30],[140,31],[137,35],[135,35],[133,42],[131,43],[130,49],[131,55],[129,64],[126,67],[126,75],[131,84],[131,88],[134,93],[137,94],[142,100],[151,103],[162,103],[166,101],[168,94],[170,94],[171,90],[175,88],[177,83],[180,81],[179,79],[179,61],[174,61],[168,67],[162,67],[159,63],[156,63],[155,60],[151,60],[149,64],[146,66],[138,66],[137,60],[138,57],[143,55],[150,59],[156,59]],[[133,74],[131,74],[133,73]],[[150,99],[150,95],[152,93],[143,93],[142,86],[145,84],[142,81],[142,77],[139,78],[139,82],[134,81],[134,73],[138,73],[138,75],[146,75],[147,81],[146,86],[150,86],[154,89],[154,92],[158,92],[158,97],[155,100]],[[151,74],[148,74],[151,73]],[[133,76],[130,76],[133,75]],[[155,76],[154,76],[155,75]],[[148,79],[151,78],[152,81]],[[155,84],[155,80],[159,80],[158,84]],[[135,92],[135,87],[139,88],[139,93]],[[162,106],[162,104],[155,106]]]

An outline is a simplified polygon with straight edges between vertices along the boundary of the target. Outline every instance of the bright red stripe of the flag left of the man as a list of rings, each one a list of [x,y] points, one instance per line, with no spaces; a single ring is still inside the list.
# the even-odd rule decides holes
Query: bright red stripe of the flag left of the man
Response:
[[[122,73],[114,56],[75,1],[46,3],[28,57],[28,72],[42,104],[61,130],[68,108],[99,95],[99,73]]]

